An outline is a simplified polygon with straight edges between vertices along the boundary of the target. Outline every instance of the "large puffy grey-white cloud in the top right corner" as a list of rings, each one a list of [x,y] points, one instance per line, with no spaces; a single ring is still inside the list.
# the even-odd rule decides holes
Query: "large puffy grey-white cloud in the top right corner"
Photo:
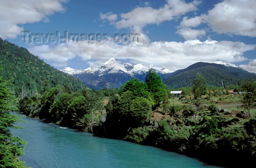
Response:
[[[209,11],[207,21],[217,33],[256,37],[256,1],[224,0]]]

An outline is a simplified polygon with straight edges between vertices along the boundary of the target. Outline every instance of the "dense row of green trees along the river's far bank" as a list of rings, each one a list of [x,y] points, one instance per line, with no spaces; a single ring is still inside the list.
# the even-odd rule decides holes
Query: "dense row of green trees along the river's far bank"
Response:
[[[83,131],[101,127],[97,131],[112,134],[118,128],[119,135],[142,125],[152,109],[167,101],[168,92],[161,77],[149,70],[145,82],[133,77],[119,90],[83,88],[72,92],[68,85],[57,85],[42,96],[20,99],[18,108],[27,116]],[[104,98],[108,101],[105,108]]]

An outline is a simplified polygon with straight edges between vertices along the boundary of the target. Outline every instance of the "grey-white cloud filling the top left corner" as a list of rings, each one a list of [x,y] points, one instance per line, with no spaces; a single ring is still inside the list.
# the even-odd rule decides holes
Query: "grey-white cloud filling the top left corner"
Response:
[[[0,37],[16,38],[23,31],[18,24],[48,21],[47,16],[63,12],[66,0],[1,0]]]

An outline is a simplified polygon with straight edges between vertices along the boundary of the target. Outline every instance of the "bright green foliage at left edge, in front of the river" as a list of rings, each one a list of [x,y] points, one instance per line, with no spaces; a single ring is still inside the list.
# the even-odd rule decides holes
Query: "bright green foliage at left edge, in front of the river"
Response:
[[[0,70],[3,70],[2,66],[0,66]],[[9,113],[12,110],[17,110],[13,108],[17,104],[11,96],[8,85],[10,85],[9,82],[0,77],[0,167],[25,167],[19,157],[24,154],[25,147],[23,145],[26,142],[19,137],[13,137],[10,130],[11,128],[20,128],[15,126],[20,120],[17,115]]]

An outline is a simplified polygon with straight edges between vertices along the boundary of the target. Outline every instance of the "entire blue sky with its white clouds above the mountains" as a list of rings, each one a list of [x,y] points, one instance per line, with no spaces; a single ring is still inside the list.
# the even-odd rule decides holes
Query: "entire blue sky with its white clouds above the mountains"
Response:
[[[56,32],[63,38],[42,41]],[[64,41],[67,33],[93,40]],[[139,41],[118,43],[116,34]],[[170,70],[220,60],[256,73],[255,0],[1,0],[0,37],[57,69],[110,58]]]

